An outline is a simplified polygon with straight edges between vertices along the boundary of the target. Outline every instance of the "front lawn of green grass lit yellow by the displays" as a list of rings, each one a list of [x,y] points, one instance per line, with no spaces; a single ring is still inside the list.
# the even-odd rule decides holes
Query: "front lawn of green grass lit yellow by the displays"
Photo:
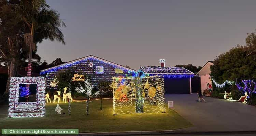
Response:
[[[68,104],[60,103],[63,112],[55,113],[56,103],[46,104],[45,117],[8,118],[8,105],[0,105],[0,129],[79,129],[79,132],[174,130],[192,126],[175,111],[166,113],[126,114],[113,116],[113,100],[89,103],[89,115],[85,115],[86,102],[72,102],[71,116]]]

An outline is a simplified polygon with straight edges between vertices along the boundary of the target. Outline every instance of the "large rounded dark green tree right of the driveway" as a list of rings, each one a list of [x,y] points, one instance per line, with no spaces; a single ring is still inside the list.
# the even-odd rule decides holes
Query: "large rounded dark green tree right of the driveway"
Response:
[[[236,46],[219,55],[210,67],[213,79],[217,83],[256,79],[256,58],[254,55],[245,57],[247,50],[246,46]]]

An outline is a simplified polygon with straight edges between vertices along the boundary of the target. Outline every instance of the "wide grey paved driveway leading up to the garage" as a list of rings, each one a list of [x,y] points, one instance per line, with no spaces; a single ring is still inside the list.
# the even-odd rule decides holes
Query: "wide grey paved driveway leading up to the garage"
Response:
[[[196,102],[197,95],[166,94],[165,100],[174,101],[174,110],[194,126],[176,131],[255,131],[256,107],[240,102],[204,97]]]

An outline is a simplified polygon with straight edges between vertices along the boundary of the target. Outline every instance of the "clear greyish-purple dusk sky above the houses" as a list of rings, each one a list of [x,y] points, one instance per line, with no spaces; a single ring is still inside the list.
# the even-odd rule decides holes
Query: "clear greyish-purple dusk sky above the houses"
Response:
[[[140,66],[203,66],[256,29],[256,0],[47,0],[60,13],[66,45],[38,44],[42,61],[95,55]]]

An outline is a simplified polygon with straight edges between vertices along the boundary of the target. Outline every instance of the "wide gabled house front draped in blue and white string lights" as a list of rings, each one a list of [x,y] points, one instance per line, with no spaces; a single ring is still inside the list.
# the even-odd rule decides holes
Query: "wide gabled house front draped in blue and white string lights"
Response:
[[[98,85],[102,81],[112,82],[112,77],[130,77],[137,73],[136,70],[131,68],[89,55],[41,70],[40,74],[46,76],[46,88],[53,88],[51,82],[56,79],[56,74],[59,70],[72,70],[75,73],[87,74],[91,78],[93,85]]]

